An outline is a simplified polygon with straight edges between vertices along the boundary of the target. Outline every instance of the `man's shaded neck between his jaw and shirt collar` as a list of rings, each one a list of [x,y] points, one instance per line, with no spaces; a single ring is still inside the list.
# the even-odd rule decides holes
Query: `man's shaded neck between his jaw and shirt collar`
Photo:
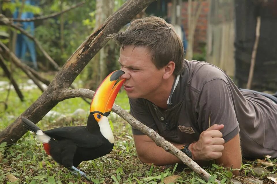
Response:
[[[152,95],[149,99],[147,98],[147,100],[162,109],[167,109],[167,99],[169,98],[174,79],[175,76],[172,75],[162,84],[162,86],[160,86],[160,88],[156,91],[156,94]]]

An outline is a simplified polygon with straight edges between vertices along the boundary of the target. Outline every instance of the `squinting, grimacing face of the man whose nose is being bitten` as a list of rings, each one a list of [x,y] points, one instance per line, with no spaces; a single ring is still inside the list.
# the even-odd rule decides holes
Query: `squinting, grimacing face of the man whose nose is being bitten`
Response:
[[[143,46],[125,46],[119,56],[121,70],[125,72],[124,89],[130,98],[146,98],[151,100],[159,95],[164,69],[158,70],[151,61],[149,49]]]

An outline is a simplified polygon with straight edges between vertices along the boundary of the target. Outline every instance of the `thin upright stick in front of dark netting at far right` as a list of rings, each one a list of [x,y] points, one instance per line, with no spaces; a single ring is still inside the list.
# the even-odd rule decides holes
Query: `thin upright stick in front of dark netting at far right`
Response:
[[[251,63],[250,63],[248,81],[246,84],[247,89],[250,89],[251,85],[252,85],[255,62],[256,62],[257,48],[258,48],[259,38],[260,38],[260,28],[261,28],[261,16],[258,16],[257,17],[257,25],[256,25],[256,38],[255,38],[254,47],[253,47],[253,51],[252,51],[252,55],[251,55]]]

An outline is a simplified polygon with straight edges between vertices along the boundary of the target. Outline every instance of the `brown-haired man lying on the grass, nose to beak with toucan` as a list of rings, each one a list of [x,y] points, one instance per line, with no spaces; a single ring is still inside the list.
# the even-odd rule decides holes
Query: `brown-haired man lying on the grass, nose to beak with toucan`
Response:
[[[121,78],[137,120],[196,162],[216,160],[234,169],[242,156],[277,157],[276,97],[242,91],[216,66],[184,60],[179,36],[161,18],[134,20],[110,37],[121,46]],[[142,162],[180,162],[147,135],[133,134]]]

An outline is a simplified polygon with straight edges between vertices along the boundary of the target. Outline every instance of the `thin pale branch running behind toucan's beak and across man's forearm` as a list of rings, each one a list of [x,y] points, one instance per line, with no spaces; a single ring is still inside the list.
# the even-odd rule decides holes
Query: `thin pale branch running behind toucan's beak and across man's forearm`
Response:
[[[64,100],[68,98],[74,97],[86,97],[92,99],[94,95],[94,91],[89,89],[65,89],[63,90],[62,94],[59,96],[59,100]],[[184,164],[186,164],[190,169],[192,169],[195,173],[200,175],[206,181],[209,180],[211,176],[207,171],[201,168],[196,162],[194,162],[191,158],[189,158],[186,154],[181,152],[178,148],[176,148],[173,144],[166,141],[162,136],[160,136],[157,132],[153,129],[147,127],[145,124],[141,123],[140,121],[136,120],[132,115],[122,109],[120,106],[113,104],[112,111],[119,115],[121,118],[126,120],[132,127],[138,129],[139,131],[143,132],[145,135],[150,137],[156,145],[162,147],[167,152],[175,155],[179,158]],[[218,180],[216,182],[220,183]]]

